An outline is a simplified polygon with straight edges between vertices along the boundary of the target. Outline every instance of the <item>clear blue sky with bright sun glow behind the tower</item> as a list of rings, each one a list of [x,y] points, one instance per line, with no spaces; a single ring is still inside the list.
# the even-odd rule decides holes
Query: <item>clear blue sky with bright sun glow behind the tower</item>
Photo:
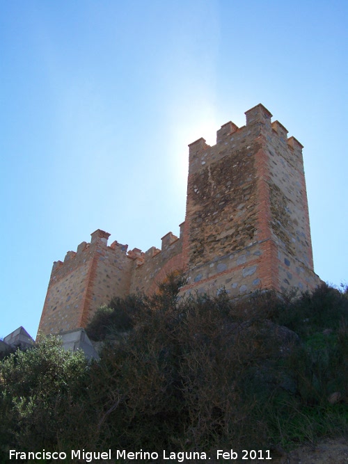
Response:
[[[0,2],[0,337],[54,261],[184,221],[188,147],[258,103],[303,145],[315,271],[348,281],[347,1]]]

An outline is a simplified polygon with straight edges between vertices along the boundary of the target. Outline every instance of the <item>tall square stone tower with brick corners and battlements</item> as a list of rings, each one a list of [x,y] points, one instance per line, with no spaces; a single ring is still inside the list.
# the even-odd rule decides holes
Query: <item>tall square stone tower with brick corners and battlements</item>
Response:
[[[313,289],[302,145],[259,104],[189,145],[184,262],[198,291]]]

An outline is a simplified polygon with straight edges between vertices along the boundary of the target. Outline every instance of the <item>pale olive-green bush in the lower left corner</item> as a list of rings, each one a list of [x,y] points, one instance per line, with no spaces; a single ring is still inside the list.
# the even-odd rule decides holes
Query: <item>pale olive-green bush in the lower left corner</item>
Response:
[[[32,349],[18,349],[0,362],[3,454],[11,447],[33,451],[86,446],[90,433],[82,399],[87,377],[84,354],[65,351],[58,337],[42,338]]]

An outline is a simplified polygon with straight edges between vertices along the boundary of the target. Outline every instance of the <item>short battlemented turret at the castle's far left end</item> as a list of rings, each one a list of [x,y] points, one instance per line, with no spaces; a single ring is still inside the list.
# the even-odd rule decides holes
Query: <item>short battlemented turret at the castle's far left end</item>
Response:
[[[68,251],[64,262],[54,263],[39,331],[58,333],[86,326],[93,312],[114,295],[129,292],[133,260],[127,246],[107,246],[110,234],[97,230],[90,243]]]

